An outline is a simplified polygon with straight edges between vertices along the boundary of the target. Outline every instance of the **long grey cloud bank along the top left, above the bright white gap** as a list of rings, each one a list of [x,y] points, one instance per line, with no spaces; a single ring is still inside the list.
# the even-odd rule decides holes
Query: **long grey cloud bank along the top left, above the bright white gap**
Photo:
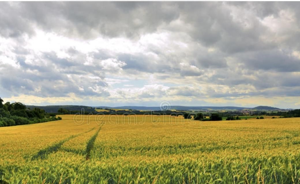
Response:
[[[67,36],[136,37],[179,16],[176,3],[1,2],[3,36],[34,34],[34,26]]]

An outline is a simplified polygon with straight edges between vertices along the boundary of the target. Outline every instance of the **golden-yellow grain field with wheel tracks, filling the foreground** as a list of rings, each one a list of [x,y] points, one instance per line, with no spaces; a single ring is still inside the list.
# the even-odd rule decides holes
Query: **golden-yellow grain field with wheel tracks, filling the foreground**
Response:
[[[298,183],[300,118],[78,116],[0,128],[9,183]]]

